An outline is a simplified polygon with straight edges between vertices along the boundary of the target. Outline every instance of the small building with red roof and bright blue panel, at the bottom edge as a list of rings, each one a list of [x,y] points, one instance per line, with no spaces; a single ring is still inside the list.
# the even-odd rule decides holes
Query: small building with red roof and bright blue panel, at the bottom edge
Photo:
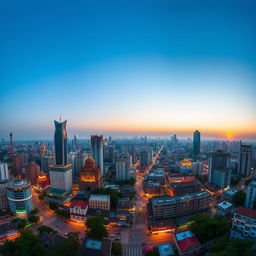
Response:
[[[201,245],[190,230],[176,232],[174,242],[181,256],[198,255]]]

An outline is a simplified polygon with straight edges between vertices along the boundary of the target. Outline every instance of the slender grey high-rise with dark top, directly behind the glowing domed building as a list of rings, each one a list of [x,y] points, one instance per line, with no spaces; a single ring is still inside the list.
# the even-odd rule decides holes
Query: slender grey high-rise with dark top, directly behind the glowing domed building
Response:
[[[101,175],[103,175],[104,164],[103,164],[103,136],[102,135],[91,136],[91,149],[92,149],[92,157],[95,160],[97,166],[99,167]]]

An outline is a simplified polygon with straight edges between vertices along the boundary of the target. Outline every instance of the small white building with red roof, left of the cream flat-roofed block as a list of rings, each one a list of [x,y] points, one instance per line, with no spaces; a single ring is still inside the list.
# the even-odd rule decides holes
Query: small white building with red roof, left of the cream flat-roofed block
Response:
[[[88,211],[88,202],[84,202],[82,200],[72,200],[69,211],[71,220],[85,222],[86,213]]]

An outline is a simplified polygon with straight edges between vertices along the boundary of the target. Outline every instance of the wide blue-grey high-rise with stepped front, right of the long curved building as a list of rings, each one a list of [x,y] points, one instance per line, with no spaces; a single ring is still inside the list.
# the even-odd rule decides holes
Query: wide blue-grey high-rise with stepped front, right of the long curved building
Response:
[[[226,188],[230,185],[230,153],[217,150],[209,155],[208,182]]]

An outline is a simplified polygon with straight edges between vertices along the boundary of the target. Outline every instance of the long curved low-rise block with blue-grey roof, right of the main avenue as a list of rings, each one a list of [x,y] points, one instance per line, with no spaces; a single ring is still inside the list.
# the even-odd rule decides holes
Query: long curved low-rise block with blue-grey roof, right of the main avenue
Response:
[[[209,208],[210,193],[201,191],[187,196],[153,197],[150,200],[156,219],[175,218],[200,212]]]

